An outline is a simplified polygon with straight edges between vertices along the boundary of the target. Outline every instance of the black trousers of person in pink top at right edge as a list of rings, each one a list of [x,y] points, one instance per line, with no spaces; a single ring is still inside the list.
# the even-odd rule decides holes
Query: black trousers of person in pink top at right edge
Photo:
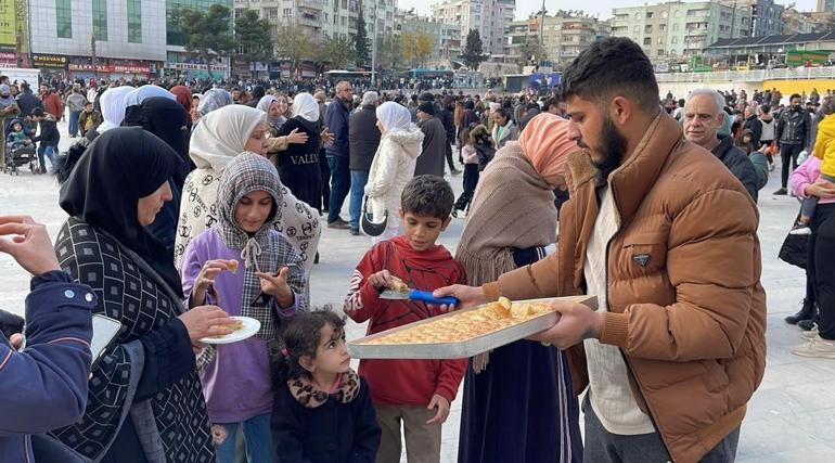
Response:
[[[835,204],[819,204],[811,226],[807,272],[818,300],[818,332],[835,340]]]

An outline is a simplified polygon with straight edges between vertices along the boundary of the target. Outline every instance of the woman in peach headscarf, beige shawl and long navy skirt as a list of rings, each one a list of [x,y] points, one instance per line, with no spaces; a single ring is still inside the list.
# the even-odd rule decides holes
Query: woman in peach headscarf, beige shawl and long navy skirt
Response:
[[[518,142],[508,142],[485,168],[455,254],[470,285],[496,281],[553,249],[552,191],[565,185],[568,155],[580,151],[568,124],[548,113],[534,117]],[[579,408],[565,355],[555,347],[518,340],[476,356],[463,396],[460,462],[582,460]]]

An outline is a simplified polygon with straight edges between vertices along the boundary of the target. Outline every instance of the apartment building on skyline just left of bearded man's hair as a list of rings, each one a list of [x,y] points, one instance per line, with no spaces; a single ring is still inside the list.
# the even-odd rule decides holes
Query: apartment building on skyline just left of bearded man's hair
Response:
[[[592,43],[608,37],[609,29],[608,21],[565,12],[557,12],[554,16],[545,15],[544,21],[541,16],[513,21],[505,33],[505,60],[519,65],[536,64],[526,55],[538,50],[541,31],[544,61],[562,67],[570,64]]]

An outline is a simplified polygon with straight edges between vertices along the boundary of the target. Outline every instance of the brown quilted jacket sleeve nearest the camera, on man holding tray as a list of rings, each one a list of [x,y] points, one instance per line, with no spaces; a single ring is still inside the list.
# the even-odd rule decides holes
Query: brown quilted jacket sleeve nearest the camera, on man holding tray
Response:
[[[736,220],[718,220],[717,205]],[[605,313],[601,343],[653,360],[734,357],[754,306],[762,303],[757,226],[757,213],[741,191],[696,196],[673,218],[669,234],[667,274],[676,303]]]

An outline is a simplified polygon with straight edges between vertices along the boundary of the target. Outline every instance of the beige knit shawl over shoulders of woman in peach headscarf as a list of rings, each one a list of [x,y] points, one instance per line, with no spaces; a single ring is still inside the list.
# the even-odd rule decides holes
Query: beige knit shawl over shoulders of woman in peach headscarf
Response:
[[[516,268],[513,248],[556,241],[553,187],[534,169],[517,142],[496,153],[478,181],[455,259],[467,282],[481,285]]]

